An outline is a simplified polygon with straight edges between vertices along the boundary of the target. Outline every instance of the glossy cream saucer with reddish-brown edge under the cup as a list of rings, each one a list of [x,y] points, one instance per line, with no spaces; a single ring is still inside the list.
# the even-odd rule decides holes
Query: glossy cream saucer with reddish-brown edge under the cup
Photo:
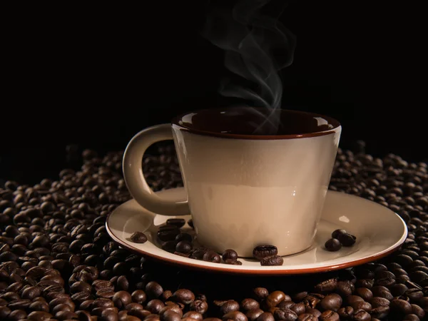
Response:
[[[169,200],[185,198],[183,188],[162,190],[157,194]],[[184,218],[187,222],[190,215],[158,215],[141,208],[135,200],[128,200],[109,215],[106,228],[111,238],[123,248],[164,263],[205,271],[254,275],[327,272],[362,265],[389,255],[407,238],[406,224],[392,210],[365,198],[329,190],[312,247],[282,257],[284,263],[281,266],[262,266],[257,260],[245,258],[239,259],[243,265],[228,265],[184,258],[162,250],[156,240],[156,232],[168,218]],[[329,252],[324,244],[331,238],[332,231],[338,228],[355,235],[357,242],[350,248],[342,247],[337,252]],[[187,223],[182,230],[194,234]],[[146,234],[146,243],[131,242],[130,236],[137,231]]]

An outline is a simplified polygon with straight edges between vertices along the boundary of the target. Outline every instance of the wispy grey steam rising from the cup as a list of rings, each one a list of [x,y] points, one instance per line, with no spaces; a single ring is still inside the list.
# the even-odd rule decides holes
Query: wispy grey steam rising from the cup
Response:
[[[270,108],[256,131],[275,133],[282,103],[282,81],[278,71],[290,66],[295,36],[278,21],[285,0],[238,0],[233,8],[208,5],[202,35],[225,51],[225,66],[235,77],[225,78],[220,94],[242,98],[253,107]],[[239,79],[233,79],[238,76]]]

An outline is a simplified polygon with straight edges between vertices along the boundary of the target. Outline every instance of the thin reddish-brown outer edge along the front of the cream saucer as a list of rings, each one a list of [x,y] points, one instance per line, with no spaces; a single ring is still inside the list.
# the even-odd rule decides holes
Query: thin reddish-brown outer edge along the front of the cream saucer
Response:
[[[397,213],[394,213],[397,215]],[[108,215],[108,218],[110,215]],[[396,250],[398,250],[402,243],[404,243],[404,240],[402,242],[398,243],[394,248],[391,250],[388,250],[385,253],[379,254],[379,255],[372,255],[368,258],[362,258],[360,260],[353,260],[347,263],[337,264],[337,265],[327,265],[322,267],[313,267],[313,268],[307,268],[307,269],[298,269],[298,270],[240,270],[240,269],[230,269],[227,267],[212,267],[212,266],[200,266],[200,265],[194,265],[192,263],[183,262],[180,260],[171,260],[170,258],[165,258],[161,255],[155,255],[152,253],[148,253],[146,251],[140,250],[138,248],[134,248],[132,245],[129,245],[128,243],[123,242],[120,240],[112,230],[108,227],[108,218],[106,220],[106,230],[107,233],[113,238],[113,240],[121,245],[123,248],[127,248],[128,250],[131,250],[131,252],[136,253],[138,255],[147,255],[149,258],[153,258],[154,260],[161,262],[161,263],[168,263],[169,265],[180,265],[188,267],[192,270],[205,270],[206,272],[223,272],[225,274],[233,274],[233,275],[297,275],[297,274],[312,274],[317,272],[330,272],[335,270],[343,270],[348,267],[354,267],[357,265],[363,265],[365,263],[370,263],[375,260],[379,260],[381,258],[385,258],[386,256],[394,253]],[[407,232],[407,229],[406,229]],[[220,263],[219,263],[220,264]],[[223,264],[226,265],[226,264]]]

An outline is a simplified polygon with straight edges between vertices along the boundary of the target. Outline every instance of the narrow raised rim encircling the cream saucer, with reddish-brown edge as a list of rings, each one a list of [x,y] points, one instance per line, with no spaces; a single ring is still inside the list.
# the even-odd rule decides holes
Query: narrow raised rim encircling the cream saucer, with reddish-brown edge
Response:
[[[177,190],[178,188],[170,188],[168,190]],[[329,190],[328,193],[338,193],[338,194],[344,194],[341,192],[337,192],[334,190]],[[371,200],[367,200],[365,198],[361,198],[359,196],[356,195],[351,195],[351,194],[345,194],[347,196],[351,196],[351,197],[355,197],[355,198],[360,198],[362,200],[365,200],[367,202],[379,205],[375,202],[372,202]],[[121,205],[124,205],[128,202],[131,202],[133,199],[126,201],[125,203],[122,203]],[[121,206],[119,205],[119,206]],[[382,205],[379,205],[382,206]],[[119,208],[119,207],[118,207]],[[161,263],[167,263],[170,265],[178,265],[180,267],[187,267],[193,270],[205,270],[208,272],[223,272],[223,273],[228,273],[228,274],[238,274],[238,275],[297,275],[297,274],[312,274],[312,273],[319,273],[319,272],[330,272],[330,271],[335,271],[335,270],[344,270],[350,267],[355,267],[357,265],[363,265],[365,263],[370,263],[373,262],[375,260],[379,260],[381,258],[385,258],[388,255],[391,255],[392,253],[394,253],[395,251],[397,251],[402,243],[404,243],[404,240],[406,240],[407,238],[407,234],[408,234],[408,230],[407,230],[407,225],[404,222],[404,220],[394,211],[390,210],[391,213],[394,213],[394,215],[397,215],[397,218],[399,218],[399,220],[401,221],[404,230],[403,230],[403,234],[401,236],[401,238],[394,243],[394,245],[391,245],[391,247],[389,248],[389,250],[385,250],[384,252],[380,252],[378,254],[375,255],[370,255],[367,258],[360,258],[358,260],[350,260],[348,262],[345,263],[339,263],[339,264],[332,264],[332,265],[323,265],[323,266],[319,266],[319,267],[307,267],[307,268],[288,268],[288,269],[278,269],[278,270],[270,270],[270,269],[261,269],[260,267],[258,268],[253,268],[253,269],[240,269],[239,265],[233,265],[233,267],[235,268],[230,268],[228,267],[227,264],[223,264],[225,266],[211,266],[211,265],[201,265],[201,264],[194,264],[194,263],[190,263],[190,262],[186,262],[183,260],[173,260],[171,258],[165,258],[164,256],[161,255],[157,255],[154,253],[150,253],[147,252],[145,250],[141,250],[139,248],[135,248],[133,245],[124,242],[123,240],[121,240],[120,238],[118,238],[115,233],[113,233],[113,231],[110,229],[109,227],[109,220],[110,220],[110,216],[118,209],[116,208],[115,210],[113,210],[113,212],[111,214],[108,215],[108,218],[106,220],[106,230],[108,235],[110,235],[110,237],[116,242],[118,243],[118,245],[120,245],[123,248],[126,248],[128,250],[130,250],[133,253],[136,253],[138,255],[146,255],[148,258],[154,259],[158,262]],[[196,262],[200,262],[199,260],[195,260]]]

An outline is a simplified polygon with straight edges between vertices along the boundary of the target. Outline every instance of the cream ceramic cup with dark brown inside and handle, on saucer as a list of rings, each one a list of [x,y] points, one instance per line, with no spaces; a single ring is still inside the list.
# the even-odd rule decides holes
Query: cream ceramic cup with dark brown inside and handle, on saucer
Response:
[[[196,111],[144,129],[123,156],[129,192],[153,213],[190,213],[198,243],[218,253],[232,248],[251,257],[255,246],[275,245],[278,255],[291,255],[310,248],[342,129],[317,114],[272,115],[280,121],[275,135],[255,131],[267,113],[249,108]],[[146,149],[169,139],[188,195],[177,202],[153,193],[142,170]]]

